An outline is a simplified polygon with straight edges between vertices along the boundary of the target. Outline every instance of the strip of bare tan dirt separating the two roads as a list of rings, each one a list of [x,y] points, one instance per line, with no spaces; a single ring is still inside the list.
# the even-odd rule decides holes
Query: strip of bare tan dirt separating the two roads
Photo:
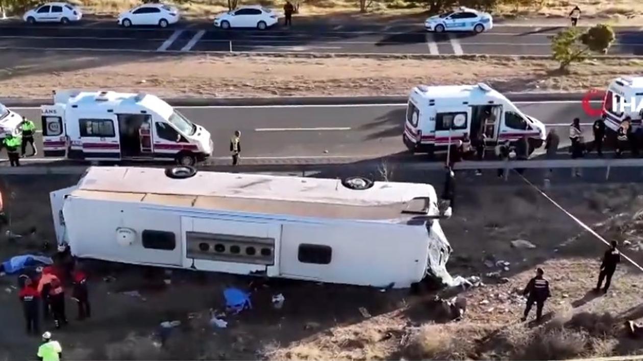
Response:
[[[499,91],[587,91],[604,89],[616,76],[635,74],[643,65],[640,60],[588,60],[561,74],[550,60],[13,55],[19,62],[0,69],[0,97],[49,98],[52,89],[75,88],[165,97],[401,95],[418,84],[477,82]],[[47,82],[42,75],[48,75]]]

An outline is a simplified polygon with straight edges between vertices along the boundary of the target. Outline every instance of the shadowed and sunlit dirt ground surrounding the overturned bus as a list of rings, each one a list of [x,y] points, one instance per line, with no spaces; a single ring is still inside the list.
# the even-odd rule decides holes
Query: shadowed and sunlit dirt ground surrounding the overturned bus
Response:
[[[393,177],[417,181],[426,179],[426,173],[395,172]],[[69,328],[55,332],[55,337],[69,360],[558,359],[643,352],[643,343],[622,331],[622,321],[643,317],[640,271],[623,263],[610,292],[597,297],[588,291],[595,285],[602,243],[518,177],[508,184],[493,174],[457,177],[458,208],[442,222],[454,250],[448,269],[454,275],[481,276],[484,283],[460,293],[467,299],[463,321],[440,324],[434,317],[433,293],[283,280],[257,283],[248,277],[176,271],[167,286],[161,269],[92,262],[87,265],[93,318],[81,323],[70,317]],[[562,173],[560,177],[564,178]],[[428,181],[439,184],[437,179],[439,174],[430,175]],[[38,227],[33,239],[10,244],[3,238],[3,259],[35,252],[42,242],[53,239],[48,191],[73,182],[73,177],[3,177],[0,189],[12,231]],[[606,239],[628,241],[622,247],[624,254],[643,263],[643,238],[638,236],[643,228],[638,214],[643,196],[638,183],[588,179],[552,184],[550,197]],[[516,239],[529,240],[536,248],[511,247]],[[507,270],[496,267],[496,261],[509,262]],[[525,286],[537,266],[545,269],[552,285],[542,325],[518,321],[524,301],[516,290]],[[500,274],[486,276],[497,271]],[[6,291],[0,292],[0,319],[7,325],[0,328],[0,349],[6,350],[6,355],[0,351],[0,360],[31,357],[38,340],[23,335],[12,287],[15,279],[4,277],[0,283]],[[221,291],[230,285],[255,289],[253,309],[227,317],[228,328],[212,327],[209,310],[221,309]],[[138,294],[123,293],[127,291]],[[285,296],[282,310],[270,303],[278,293]],[[325,301],[311,302],[321,299]],[[361,315],[360,307],[370,316]],[[75,315],[71,301],[68,313]],[[160,322],[175,320],[181,326],[172,329],[160,347]]]

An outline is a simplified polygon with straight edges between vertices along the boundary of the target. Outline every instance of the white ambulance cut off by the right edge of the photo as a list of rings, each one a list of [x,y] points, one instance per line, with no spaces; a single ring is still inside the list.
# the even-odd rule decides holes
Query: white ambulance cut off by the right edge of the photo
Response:
[[[633,127],[640,127],[643,118],[640,105],[643,105],[643,76],[622,76],[612,80],[602,105],[606,127],[616,131],[627,117],[632,120]]]

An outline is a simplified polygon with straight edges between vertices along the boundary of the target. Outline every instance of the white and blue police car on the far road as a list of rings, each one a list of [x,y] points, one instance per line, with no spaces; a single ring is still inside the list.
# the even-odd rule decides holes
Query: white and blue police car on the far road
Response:
[[[453,12],[431,16],[424,21],[424,28],[436,33],[446,30],[482,33],[493,28],[493,19],[489,13],[462,7]]]

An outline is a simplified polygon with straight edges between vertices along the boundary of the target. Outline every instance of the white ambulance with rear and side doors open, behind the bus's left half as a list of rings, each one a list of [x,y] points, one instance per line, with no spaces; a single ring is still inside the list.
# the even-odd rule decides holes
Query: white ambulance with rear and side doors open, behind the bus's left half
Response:
[[[212,155],[210,132],[157,96],[58,91],[42,105],[45,157],[87,161],[176,161]]]

